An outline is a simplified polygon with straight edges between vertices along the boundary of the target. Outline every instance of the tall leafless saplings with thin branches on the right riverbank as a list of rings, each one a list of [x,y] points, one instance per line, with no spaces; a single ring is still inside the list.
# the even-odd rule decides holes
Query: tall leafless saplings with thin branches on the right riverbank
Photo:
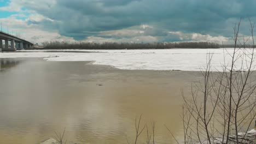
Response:
[[[191,97],[182,93],[184,143],[255,142],[249,131],[256,116],[254,23],[250,19],[249,23],[252,48],[246,48],[249,39],[240,37],[240,20],[234,27],[232,53],[224,49],[223,70],[213,72],[213,55],[208,55],[206,68],[201,70],[203,81],[191,86]]]

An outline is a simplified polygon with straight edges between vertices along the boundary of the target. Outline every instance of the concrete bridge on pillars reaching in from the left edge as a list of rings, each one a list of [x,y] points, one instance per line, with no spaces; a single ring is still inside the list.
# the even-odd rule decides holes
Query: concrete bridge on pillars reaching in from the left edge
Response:
[[[0,31],[0,52],[23,50],[32,46],[33,44],[30,41]]]

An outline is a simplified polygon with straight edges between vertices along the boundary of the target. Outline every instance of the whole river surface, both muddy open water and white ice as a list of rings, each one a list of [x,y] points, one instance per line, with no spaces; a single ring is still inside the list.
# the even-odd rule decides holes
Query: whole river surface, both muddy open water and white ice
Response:
[[[239,51],[249,52],[252,49]],[[38,143],[64,129],[67,143],[127,143],[156,122],[156,143],[183,139],[183,99],[212,57],[234,49],[33,50],[0,53],[0,143]],[[223,53],[225,53],[223,55]],[[238,59],[235,70],[240,70]],[[182,70],[182,71],[180,71]],[[146,130],[139,137],[146,143]]]

